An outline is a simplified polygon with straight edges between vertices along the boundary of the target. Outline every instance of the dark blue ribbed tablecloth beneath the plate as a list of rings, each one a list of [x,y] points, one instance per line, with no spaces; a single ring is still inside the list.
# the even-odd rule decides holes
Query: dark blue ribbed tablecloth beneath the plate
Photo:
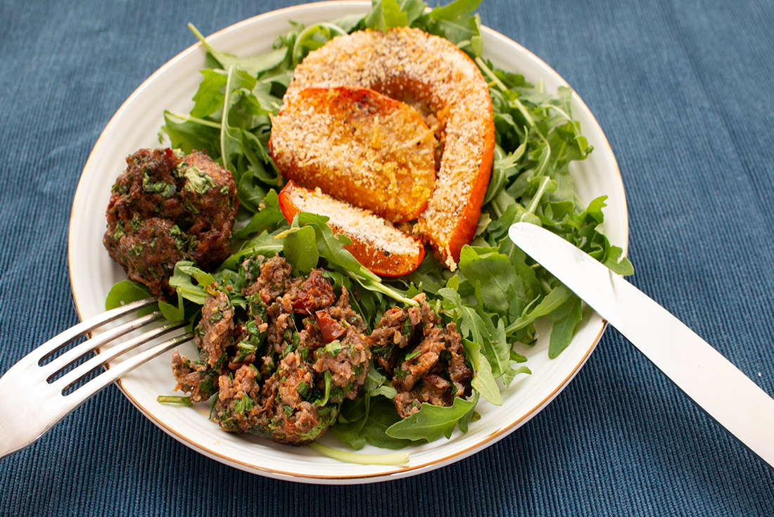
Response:
[[[0,3],[0,372],[77,323],[67,224],[111,115],[194,43],[187,22],[209,34],[292,4]],[[608,136],[632,282],[774,395],[774,2],[485,0],[480,12],[556,69]],[[608,330],[526,426],[380,484],[245,474],[110,388],[0,461],[0,515],[774,515],[774,471]]]

